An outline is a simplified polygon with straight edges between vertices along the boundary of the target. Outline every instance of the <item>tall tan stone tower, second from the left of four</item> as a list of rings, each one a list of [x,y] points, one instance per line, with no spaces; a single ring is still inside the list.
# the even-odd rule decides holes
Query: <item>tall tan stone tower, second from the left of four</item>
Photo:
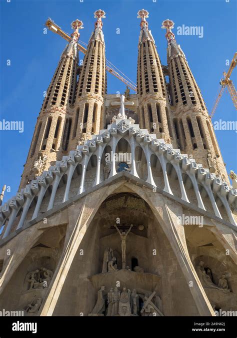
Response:
[[[102,18],[105,13],[94,13],[96,22],[88,42],[75,99],[75,122],[72,138],[90,139],[104,126],[103,98],[106,92],[105,44],[102,32]],[[71,140],[72,145],[73,140]],[[74,143],[75,144],[75,143]],[[76,144],[75,144],[76,145]]]

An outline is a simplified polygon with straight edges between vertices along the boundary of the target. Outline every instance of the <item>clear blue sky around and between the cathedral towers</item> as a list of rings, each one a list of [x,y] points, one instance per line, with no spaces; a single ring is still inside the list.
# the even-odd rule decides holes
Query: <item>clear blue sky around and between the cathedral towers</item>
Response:
[[[9,0],[8,0],[9,1]],[[93,12],[106,12],[103,32],[106,58],[136,81],[138,10],[149,12],[149,29],[155,39],[162,64],[166,64],[166,40],[161,22],[174,21],[173,33],[186,55],[190,69],[201,89],[208,111],[211,110],[225,61],[232,60],[236,48],[235,0],[0,0],[0,121],[23,121],[24,132],[0,131],[0,189],[10,187],[4,200],[13,196],[30,146],[36,118],[43,102],[43,92],[57,66],[66,42],[48,31],[43,24],[50,17],[65,32],[70,23],[82,20],[80,39],[88,42],[93,30]],[[203,27],[203,38],[177,36],[178,26]],[[120,34],[116,34],[117,28]],[[80,59],[83,55],[80,55]],[[6,65],[10,60],[10,66]],[[231,79],[236,83],[236,69]],[[123,92],[125,85],[110,74],[107,91]],[[236,111],[226,91],[220,100],[213,121],[235,121]],[[234,130],[216,131],[227,172],[236,172],[236,140]]]

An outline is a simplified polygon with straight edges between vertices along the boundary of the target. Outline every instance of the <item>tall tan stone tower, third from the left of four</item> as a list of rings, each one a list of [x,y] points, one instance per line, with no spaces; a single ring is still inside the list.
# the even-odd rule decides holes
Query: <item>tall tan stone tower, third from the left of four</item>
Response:
[[[173,128],[169,115],[165,77],[154,39],[151,31],[148,30],[146,21],[148,12],[141,10],[137,15],[137,18],[141,19],[137,64],[139,124],[141,128],[146,128],[170,143]]]

